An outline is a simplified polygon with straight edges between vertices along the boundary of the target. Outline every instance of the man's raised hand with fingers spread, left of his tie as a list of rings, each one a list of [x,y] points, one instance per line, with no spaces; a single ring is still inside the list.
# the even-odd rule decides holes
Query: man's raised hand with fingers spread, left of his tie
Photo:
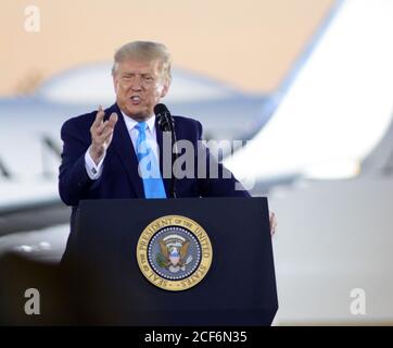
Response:
[[[98,164],[102,157],[105,154],[107,147],[111,145],[113,138],[113,129],[117,122],[117,114],[113,112],[109,120],[104,120],[104,111],[100,105],[96,115],[96,120],[90,127],[91,146],[90,157]]]

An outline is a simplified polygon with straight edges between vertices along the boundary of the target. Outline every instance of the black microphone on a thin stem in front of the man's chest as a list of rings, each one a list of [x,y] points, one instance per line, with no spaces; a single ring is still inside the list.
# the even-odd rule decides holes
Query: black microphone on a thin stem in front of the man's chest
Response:
[[[175,146],[175,151],[170,150],[170,164],[172,164],[172,178],[170,178],[170,188],[169,188],[169,195],[172,198],[177,198],[176,196],[176,189],[175,189],[175,182],[176,182],[176,177],[174,174],[174,163],[178,158],[178,153],[177,153],[177,145],[176,145],[176,133],[175,133],[175,120],[172,116],[168,108],[166,108],[165,104],[156,104],[154,107],[154,114],[157,119],[157,123],[160,126],[160,129],[162,132],[170,132],[172,135],[172,147],[170,149],[174,148]],[[175,152],[175,157],[174,157],[174,152]]]

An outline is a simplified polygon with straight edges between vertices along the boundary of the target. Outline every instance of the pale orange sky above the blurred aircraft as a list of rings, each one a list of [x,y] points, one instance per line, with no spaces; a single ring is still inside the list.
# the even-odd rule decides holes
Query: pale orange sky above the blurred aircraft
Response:
[[[0,96],[34,91],[131,40],[165,44],[174,65],[248,92],[278,87],[333,0],[2,0]],[[26,30],[35,5],[39,30]],[[37,14],[37,12],[35,12]],[[35,17],[36,18],[36,17]],[[28,26],[28,25],[27,25]]]

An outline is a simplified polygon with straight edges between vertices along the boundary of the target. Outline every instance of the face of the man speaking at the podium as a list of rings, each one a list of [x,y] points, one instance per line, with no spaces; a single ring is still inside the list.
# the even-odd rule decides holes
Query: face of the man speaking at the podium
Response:
[[[156,60],[147,62],[128,59],[118,63],[113,83],[118,107],[137,121],[149,119],[154,113],[155,104],[169,88]]]

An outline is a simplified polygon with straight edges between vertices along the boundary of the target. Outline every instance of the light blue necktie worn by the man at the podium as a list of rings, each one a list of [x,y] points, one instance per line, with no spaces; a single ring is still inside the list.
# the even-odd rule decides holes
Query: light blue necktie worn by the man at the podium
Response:
[[[138,129],[136,152],[139,162],[139,174],[143,181],[144,197],[166,198],[157,160],[149,141],[147,141],[145,129],[148,125],[145,122],[138,122],[135,127]]]

